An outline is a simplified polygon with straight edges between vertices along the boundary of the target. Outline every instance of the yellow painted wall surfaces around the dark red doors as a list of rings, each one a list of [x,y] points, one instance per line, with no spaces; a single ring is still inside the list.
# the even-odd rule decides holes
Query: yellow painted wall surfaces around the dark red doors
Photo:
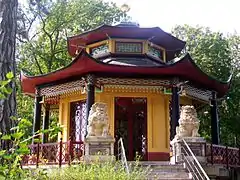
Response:
[[[114,98],[115,97],[146,97],[147,98],[147,137],[148,152],[169,152],[170,119],[169,95],[161,93],[106,91],[95,93],[96,102],[104,102],[108,106],[110,133],[114,136]],[[70,103],[86,99],[80,92],[61,96],[59,106],[59,122],[64,126],[63,141],[69,139]],[[191,104],[188,98],[181,97],[181,104]]]

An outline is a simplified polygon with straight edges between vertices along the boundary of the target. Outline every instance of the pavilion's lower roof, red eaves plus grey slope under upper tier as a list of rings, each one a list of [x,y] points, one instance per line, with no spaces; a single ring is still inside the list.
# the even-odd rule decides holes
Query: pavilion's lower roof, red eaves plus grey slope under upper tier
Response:
[[[125,59],[128,61],[124,61]],[[195,64],[189,54],[176,62],[162,64],[147,55],[141,58],[109,57],[97,60],[83,49],[68,66],[54,72],[38,76],[21,73],[22,91],[26,94],[34,94],[35,88],[40,85],[79,78],[88,73],[127,77],[179,77],[199,87],[217,91],[219,97],[225,95],[229,89],[229,82],[220,82],[208,76]]]

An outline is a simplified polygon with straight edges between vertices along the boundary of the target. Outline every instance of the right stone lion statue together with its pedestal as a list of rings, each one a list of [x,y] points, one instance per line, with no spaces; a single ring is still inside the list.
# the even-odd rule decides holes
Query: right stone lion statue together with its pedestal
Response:
[[[172,146],[171,164],[182,162],[182,148],[186,148],[182,139],[186,141],[199,162],[206,163],[206,140],[198,134],[200,121],[193,106],[183,106],[181,109],[179,126],[176,127],[176,135],[170,142]],[[190,158],[190,157],[189,157]]]

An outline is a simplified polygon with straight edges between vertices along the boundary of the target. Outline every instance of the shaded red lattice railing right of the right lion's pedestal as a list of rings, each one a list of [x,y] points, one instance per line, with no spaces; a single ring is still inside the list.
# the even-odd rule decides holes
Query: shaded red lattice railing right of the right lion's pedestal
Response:
[[[240,148],[207,144],[206,156],[211,164],[224,164],[227,167],[240,166]]]

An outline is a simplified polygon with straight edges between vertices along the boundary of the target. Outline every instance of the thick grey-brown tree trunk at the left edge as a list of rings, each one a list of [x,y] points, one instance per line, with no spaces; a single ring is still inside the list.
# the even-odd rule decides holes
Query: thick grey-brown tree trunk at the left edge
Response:
[[[17,31],[17,0],[0,0],[0,81],[6,80],[6,74],[15,76],[15,44]],[[12,93],[0,100],[0,132],[9,133],[15,125],[11,117],[16,116],[16,85],[9,85]],[[6,149],[6,142],[1,142],[0,149]]]

